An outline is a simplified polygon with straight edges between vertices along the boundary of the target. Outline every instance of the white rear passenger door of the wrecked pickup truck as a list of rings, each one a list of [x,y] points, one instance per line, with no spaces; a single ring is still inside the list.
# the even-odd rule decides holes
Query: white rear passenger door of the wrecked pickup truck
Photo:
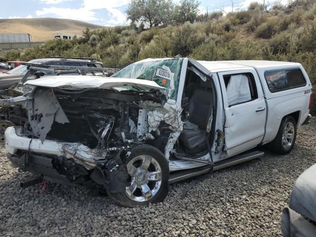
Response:
[[[245,103],[228,105],[227,88],[223,76],[251,73],[255,79],[258,98]],[[260,80],[254,69],[236,70],[219,73],[221,82],[224,110],[226,114],[225,141],[228,157],[247,151],[263,139],[266,122],[266,103],[263,96]],[[233,79],[233,78],[232,78]],[[257,112],[258,109],[265,110]]]

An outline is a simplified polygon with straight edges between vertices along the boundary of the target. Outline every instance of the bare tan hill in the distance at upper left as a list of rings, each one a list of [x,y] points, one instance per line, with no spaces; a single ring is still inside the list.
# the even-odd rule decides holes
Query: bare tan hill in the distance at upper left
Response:
[[[28,33],[31,34],[32,41],[51,40],[55,32],[81,36],[86,27],[102,28],[82,21],[58,18],[0,19],[0,33]]]

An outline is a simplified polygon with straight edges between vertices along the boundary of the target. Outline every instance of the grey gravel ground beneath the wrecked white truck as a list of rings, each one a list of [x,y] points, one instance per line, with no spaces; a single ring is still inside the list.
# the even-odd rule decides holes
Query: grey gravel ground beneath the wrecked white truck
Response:
[[[316,162],[316,119],[300,127],[286,156],[267,153],[197,181],[170,186],[162,203],[122,208],[85,188],[47,183],[19,188],[29,173],[0,149],[0,236],[281,236],[281,211],[296,178]]]

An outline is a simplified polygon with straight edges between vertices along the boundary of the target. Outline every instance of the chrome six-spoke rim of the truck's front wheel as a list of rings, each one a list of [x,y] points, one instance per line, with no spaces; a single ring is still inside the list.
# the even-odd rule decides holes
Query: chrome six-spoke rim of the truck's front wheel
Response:
[[[131,159],[126,166],[131,179],[125,195],[137,202],[148,201],[155,197],[162,180],[158,161],[151,156],[141,155]]]

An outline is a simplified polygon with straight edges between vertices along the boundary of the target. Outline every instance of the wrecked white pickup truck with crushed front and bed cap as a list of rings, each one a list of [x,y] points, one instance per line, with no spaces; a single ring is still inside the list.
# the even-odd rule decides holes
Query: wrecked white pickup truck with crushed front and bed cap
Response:
[[[5,131],[12,164],[41,179],[106,190],[123,206],[162,201],[168,184],[262,156],[286,154],[310,118],[299,63],[147,59],[111,78],[29,80],[12,99],[24,126]]]

